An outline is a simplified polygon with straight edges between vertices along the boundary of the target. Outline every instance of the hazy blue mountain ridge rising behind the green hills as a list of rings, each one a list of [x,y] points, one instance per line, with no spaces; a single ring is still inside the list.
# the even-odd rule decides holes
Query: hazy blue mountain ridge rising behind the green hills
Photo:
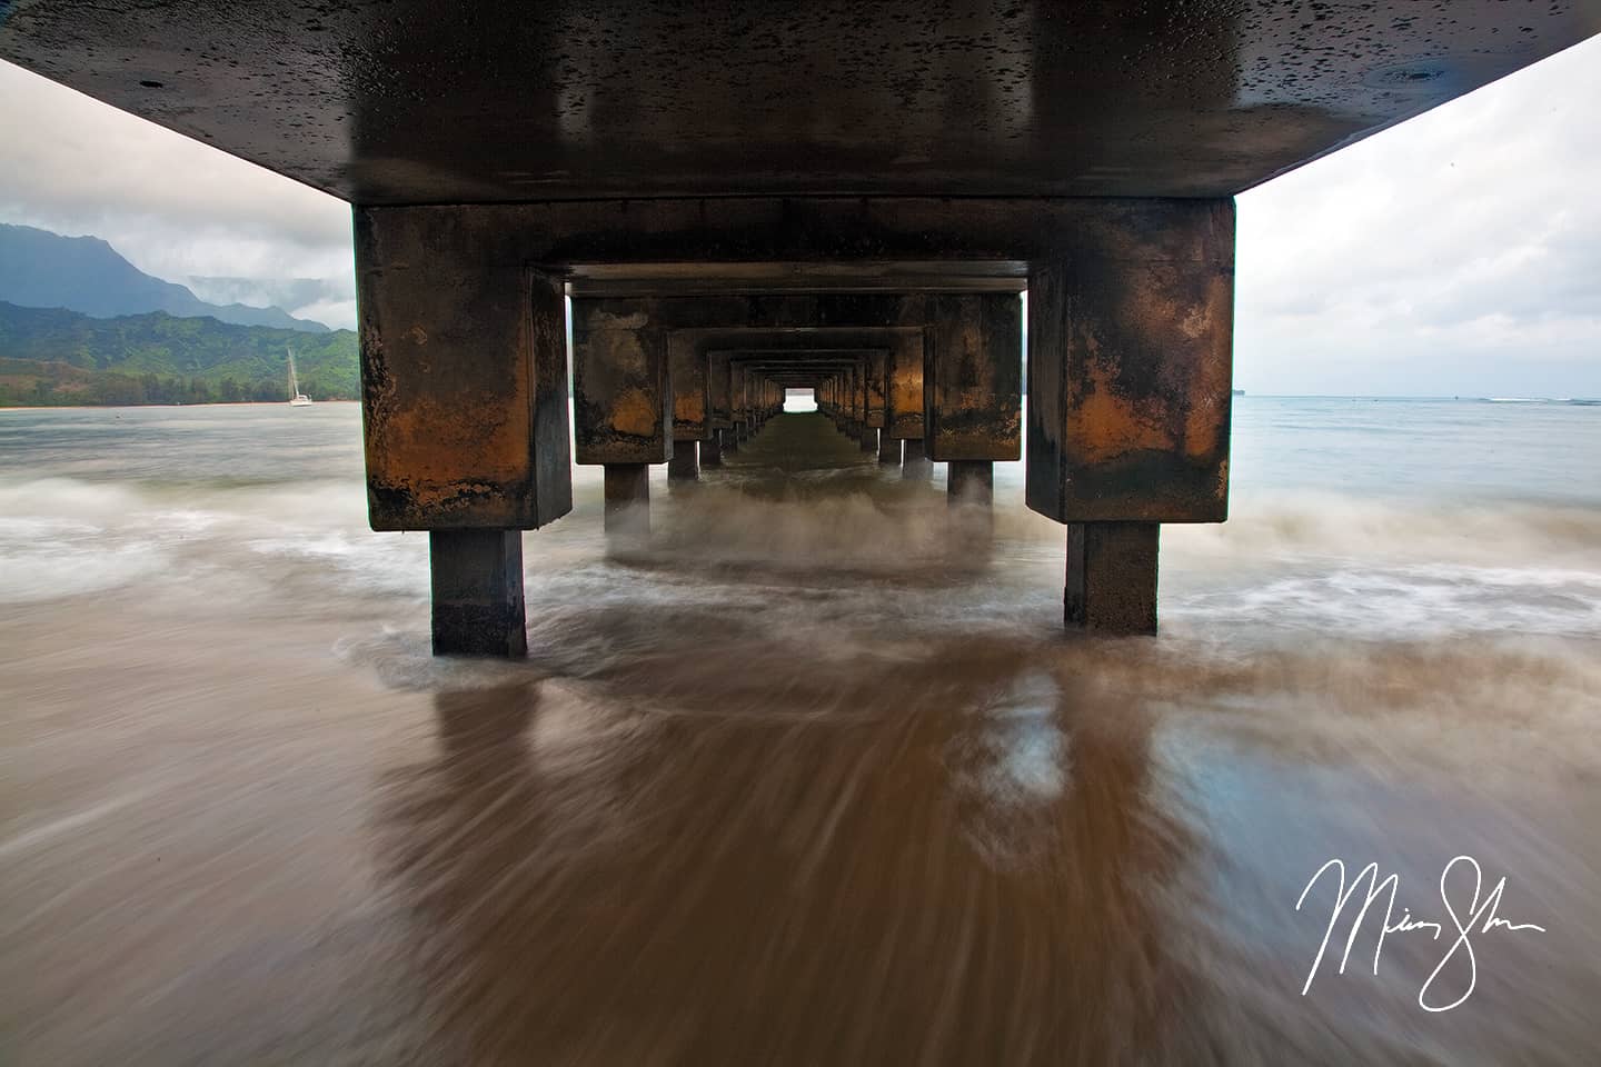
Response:
[[[154,278],[98,237],[62,237],[32,226],[0,224],[0,301],[21,307],[64,307],[94,318],[167,312],[210,315],[240,326],[328,333],[282,307],[207,304],[181,285]]]

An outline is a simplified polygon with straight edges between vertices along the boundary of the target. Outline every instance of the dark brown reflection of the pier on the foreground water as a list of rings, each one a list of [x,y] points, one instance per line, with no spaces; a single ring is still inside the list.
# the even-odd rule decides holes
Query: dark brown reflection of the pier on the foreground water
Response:
[[[442,693],[381,838],[440,1048],[469,1062],[1106,1062],[1191,993],[1188,838],[1137,709],[1017,657],[826,713]]]

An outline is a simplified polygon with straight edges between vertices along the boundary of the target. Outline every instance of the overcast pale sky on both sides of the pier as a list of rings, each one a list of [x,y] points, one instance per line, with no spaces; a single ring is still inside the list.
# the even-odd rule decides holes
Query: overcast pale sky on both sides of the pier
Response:
[[[354,326],[349,208],[0,62],[0,221]],[[1601,38],[1239,197],[1234,384],[1601,397]]]

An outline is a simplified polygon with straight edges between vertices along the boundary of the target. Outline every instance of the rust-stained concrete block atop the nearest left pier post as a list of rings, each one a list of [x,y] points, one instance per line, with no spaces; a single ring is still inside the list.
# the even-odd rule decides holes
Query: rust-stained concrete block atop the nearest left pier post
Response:
[[[448,211],[360,213],[355,264],[373,530],[572,510],[560,282],[487,254]]]

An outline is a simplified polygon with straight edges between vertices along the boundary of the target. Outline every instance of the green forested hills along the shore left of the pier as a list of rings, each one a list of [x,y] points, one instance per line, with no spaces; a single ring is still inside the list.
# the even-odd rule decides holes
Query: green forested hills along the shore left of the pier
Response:
[[[349,330],[234,326],[165,312],[88,318],[0,302],[0,406],[288,400],[288,349],[312,400],[357,400]]]

